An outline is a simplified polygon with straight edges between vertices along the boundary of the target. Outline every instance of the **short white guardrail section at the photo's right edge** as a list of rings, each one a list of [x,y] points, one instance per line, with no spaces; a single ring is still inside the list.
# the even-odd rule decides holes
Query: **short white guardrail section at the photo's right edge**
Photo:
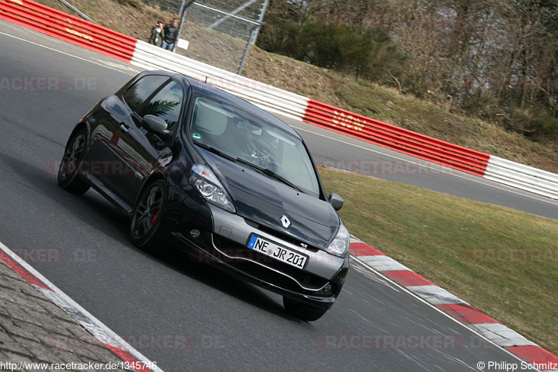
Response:
[[[558,199],[558,174],[490,156],[485,179]]]

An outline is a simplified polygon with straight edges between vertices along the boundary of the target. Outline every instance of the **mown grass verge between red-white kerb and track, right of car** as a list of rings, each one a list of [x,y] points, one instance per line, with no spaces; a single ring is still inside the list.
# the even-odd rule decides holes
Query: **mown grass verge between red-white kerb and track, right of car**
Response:
[[[320,168],[356,237],[558,354],[558,221]]]

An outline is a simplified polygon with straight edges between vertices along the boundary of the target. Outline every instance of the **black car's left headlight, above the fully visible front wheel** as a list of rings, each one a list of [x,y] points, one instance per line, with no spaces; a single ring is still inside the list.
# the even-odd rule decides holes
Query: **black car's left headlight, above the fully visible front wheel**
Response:
[[[193,184],[197,191],[204,197],[205,200],[211,204],[234,213],[236,208],[232,204],[227,191],[220,183],[215,174],[205,165],[194,164],[192,166],[192,176],[190,177],[190,184]]]

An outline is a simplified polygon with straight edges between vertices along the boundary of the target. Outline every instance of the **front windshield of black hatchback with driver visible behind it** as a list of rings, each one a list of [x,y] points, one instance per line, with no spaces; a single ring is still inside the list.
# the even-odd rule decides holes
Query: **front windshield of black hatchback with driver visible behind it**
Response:
[[[195,144],[319,196],[312,161],[299,137],[238,107],[202,96],[195,98],[191,118]]]

